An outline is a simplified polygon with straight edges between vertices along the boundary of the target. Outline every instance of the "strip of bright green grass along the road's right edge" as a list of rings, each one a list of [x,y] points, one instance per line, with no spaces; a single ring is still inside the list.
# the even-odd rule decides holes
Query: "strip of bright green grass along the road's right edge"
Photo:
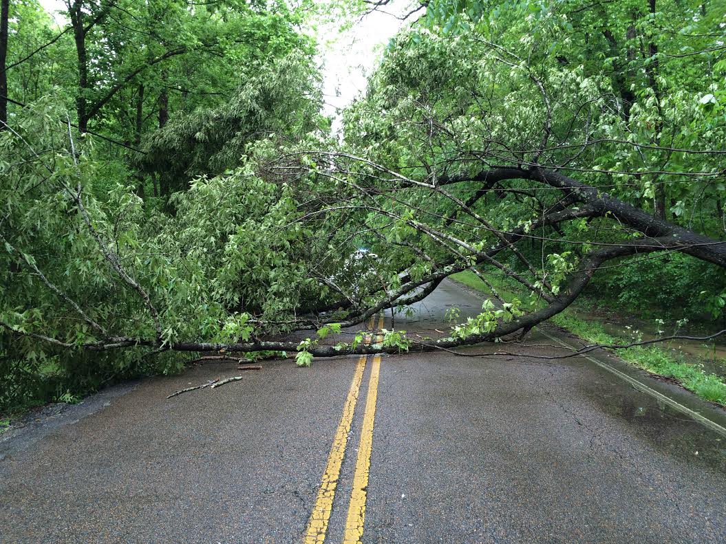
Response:
[[[473,272],[463,271],[455,273],[451,277],[467,287],[489,293],[484,282],[478,279]],[[492,281],[492,284],[505,299],[516,297],[526,300],[528,298],[526,294],[517,292],[515,286],[510,286],[502,281]],[[564,310],[550,321],[592,344],[632,342],[632,338],[608,334],[601,323],[578,318],[571,310]],[[650,374],[673,379],[685,389],[696,393],[698,397],[726,406],[726,382],[716,374],[708,374],[703,371],[703,366],[698,363],[688,363],[682,356],[664,350],[658,345],[629,347],[625,350],[613,351],[627,363],[643,368]]]

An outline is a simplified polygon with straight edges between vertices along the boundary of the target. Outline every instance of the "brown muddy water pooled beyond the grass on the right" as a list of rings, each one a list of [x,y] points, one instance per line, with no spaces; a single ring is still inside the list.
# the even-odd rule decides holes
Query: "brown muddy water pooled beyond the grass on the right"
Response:
[[[581,319],[590,321],[599,321],[605,332],[617,337],[634,338],[635,331],[643,340],[653,340],[658,337],[673,336],[674,323],[666,323],[661,325],[653,321],[645,321],[633,316],[619,316],[618,314],[605,312],[602,310],[583,310],[582,308],[574,308],[573,313]],[[690,323],[686,323],[675,334],[684,334],[687,336],[705,337],[719,331],[718,323],[713,323],[708,327],[701,327],[696,330]],[[664,331],[658,333],[658,331]],[[672,350],[677,355],[682,355],[687,363],[702,364],[706,372],[726,376],[726,334],[715,340],[707,342],[698,340],[671,340],[663,342],[661,347]]]

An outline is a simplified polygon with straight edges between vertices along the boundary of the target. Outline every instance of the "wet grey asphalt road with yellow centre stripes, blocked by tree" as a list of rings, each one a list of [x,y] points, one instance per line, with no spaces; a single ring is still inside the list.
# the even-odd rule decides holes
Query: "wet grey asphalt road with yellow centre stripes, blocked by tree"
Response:
[[[438,334],[454,305],[468,315],[481,301],[446,283],[396,327]],[[529,344],[506,350],[563,353],[538,334]],[[726,541],[726,436],[592,360],[273,361],[166,399],[238,373],[205,364],[124,384],[7,434],[0,541]],[[629,375],[723,424],[720,409]]]

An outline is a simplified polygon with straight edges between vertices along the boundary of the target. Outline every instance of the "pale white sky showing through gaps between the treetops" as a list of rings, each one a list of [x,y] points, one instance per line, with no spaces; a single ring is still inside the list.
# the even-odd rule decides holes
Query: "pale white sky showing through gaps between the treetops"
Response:
[[[65,17],[55,13],[65,9],[63,0],[40,0],[40,3],[59,25],[66,24]],[[404,24],[396,15],[403,15],[411,3],[411,0],[394,0],[385,13],[373,12],[345,33],[330,25],[320,28],[325,114],[335,118],[334,128],[340,127],[336,112],[365,91],[366,78],[380,59],[383,47]]]

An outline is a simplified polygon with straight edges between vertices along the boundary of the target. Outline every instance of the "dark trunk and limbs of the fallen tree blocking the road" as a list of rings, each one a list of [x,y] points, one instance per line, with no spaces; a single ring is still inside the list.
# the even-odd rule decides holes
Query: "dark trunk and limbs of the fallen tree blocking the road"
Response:
[[[20,135],[16,135],[20,138]],[[317,153],[320,154],[320,153]],[[340,158],[340,154],[322,154],[325,157]],[[396,275],[396,286],[379,285],[375,278],[369,278],[369,281],[362,292],[346,292],[346,289],[335,286],[333,292],[336,292],[341,298],[339,302],[333,302],[328,308],[335,308],[334,311],[325,313],[310,313],[309,316],[301,316],[285,323],[285,329],[288,332],[324,329],[325,327],[335,326],[335,331],[341,328],[355,327],[364,323],[372,316],[377,315],[382,310],[407,306],[419,300],[423,300],[425,296],[430,294],[442,279],[451,276],[452,273],[463,271],[477,266],[487,266],[494,268],[520,282],[533,294],[546,301],[547,304],[543,308],[534,311],[525,312],[518,308],[518,301],[507,301],[499,297],[496,291],[492,289],[492,297],[499,299],[501,307],[495,310],[491,305],[487,310],[470,322],[454,328],[455,334],[443,339],[431,340],[431,342],[418,342],[415,346],[417,350],[438,350],[460,347],[462,345],[472,345],[480,342],[493,341],[514,334],[518,331],[529,331],[543,321],[551,318],[555,314],[561,312],[568,307],[582,293],[587,286],[593,274],[610,260],[619,259],[633,255],[648,255],[656,252],[685,252],[694,257],[706,260],[719,266],[726,265],[726,242],[710,239],[688,229],[672,225],[666,221],[653,218],[651,215],[644,213],[642,210],[614,199],[608,194],[598,191],[594,187],[585,186],[572,178],[562,176],[558,173],[549,173],[541,168],[531,170],[521,170],[515,168],[500,168],[495,170],[487,170],[478,173],[470,178],[450,178],[439,180],[438,183],[431,184],[425,181],[415,181],[413,179],[393,173],[391,170],[380,165],[375,165],[368,160],[354,157],[349,154],[343,155],[346,160],[359,162],[367,167],[374,168],[381,173],[393,175],[392,178],[383,180],[380,176],[375,176],[378,184],[375,189],[372,186],[362,186],[356,181],[348,180],[346,185],[353,191],[356,191],[356,197],[361,201],[350,203],[351,196],[343,199],[343,202],[335,202],[333,205],[325,205],[314,211],[304,213],[297,219],[296,223],[306,221],[315,221],[317,215],[329,215],[331,212],[345,213],[354,212],[360,214],[366,213],[366,221],[370,214],[375,214],[386,220],[393,221],[392,230],[396,228],[407,227],[411,229],[415,236],[421,236],[429,242],[433,242],[441,248],[441,255],[436,259],[428,257],[428,273],[413,273],[411,268],[414,263],[405,261],[404,268],[393,268]],[[279,168],[279,167],[275,167]],[[285,167],[289,170],[290,167]],[[301,167],[302,168],[302,167]],[[322,170],[317,170],[318,174],[324,174],[324,177],[335,177],[336,167],[326,165]],[[338,168],[341,172],[350,174],[352,170],[347,168]],[[48,167],[52,173],[52,168]],[[298,171],[297,175],[308,176],[309,168],[303,168]],[[355,173],[355,177],[370,178],[370,173]],[[342,178],[338,178],[342,180]],[[481,215],[478,215],[470,205],[466,205],[453,194],[449,193],[444,187],[456,183],[477,182],[492,186],[492,179],[496,179],[497,183],[513,179],[524,179],[528,181],[536,181],[550,187],[555,187],[563,191],[563,197],[558,201],[558,205],[545,210],[537,222],[531,222],[527,226],[518,226],[509,231],[502,231],[494,228],[491,223],[486,221]],[[386,190],[386,182],[395,185],[393,189]],[[409,189],[417,191],[430,191],[438,197],[444,197],[454,202],[457,206],[457,215],[467,215],[473,221],[476,221],[474,231],[480,231],[480,238],[472,242],[470,239],[461,239],[451,234],[450,231],[432,226],[416,219],[407,218],[401,213],[396,213],[393,209],[384,209],[375,205],[376,200],[392,199],[398,200],[397,194],[407,193]],[[4,237],[5,247],[7,251],[15,256],[14,264],[16,267],[23,267],[33,276],[36,276],[44,287],[59,297],[65,305],[75,311],[78,317],[86,323],[89,329],[94,331],[94,338],[84,342],[68,342],[57,337],[48,336],[41,331],[25,330],[19,326],[13,326],[9,323],[0,323],[8,331],[20,336],[26,336],[49,345],[66,348],[70,350],[91,350],[91,351],[109,351],[121,350],[129,347],[146,347],[154,350],[154,353],[162,353],[164,351],[181,351],[181,352],[230,352],[230,353],[256,353],[271,351],[291,351],[301,350],[300,342],[280,342],[266,341],[257,339],[249,342],[198,342],[187,339],[166,339],[164,328],[166,323],[160,317],[163,312],[156,308],[152,297],[144,289],[139,281],[136,281],[133,274],[126,269],[122,263],[122,257],[113,249],[113,244],[118,241],[110,241],[105,239],[94,226],[86,204],[83,202],[83,191],[80,185],[75,188],[69,184],[62,185],[62,194],[78,211],[86,232],[95,242],[97,251],[102,256],[107,268],[114,273],[118,281],[125,285],[127,289],[136,292],[136,296],[142,307],[146,309],[150,321],[150,331],[155,334],[149,336],[129,336],[116,333],[110,333],[106,326],[99,324],[97,319],[91,317],[91,310],[84,310],[81,305],[73,300],[62,287],[52,283],[46,275],[38,268],[33,257],[20,252]],[[367,203],[372,201],[372,203]],[[567,205],[564,205],[566,202]],[[348,220],[351,215],[348,215]],[[560,225],[570,221],[580,220],[583,218],[605,218],[610,221],[616,221],[621,225],[625,225],[631,231],[639,232],[643,235],[641,239],[635,239],[629,242],[587,242],[587,247],[595,246],[597,249],[582,252],[574,263],[565,263],[561,271],[537,270],[534,265],[516,249],[517,244],[523,240],[539,238],[535,231],[546,227]],[[460,220],[454,223],[464,224]],[[361,227],[365,226],[364,224]],[[467,223],[467,226],[472,225]],[[484,233],[484,234],[481,234]],[[333,238],[335,233],[330,233]],[[486,239],[495,241],[494,244],[487,244]],[[563,240],[558,240],[563,242]],[[423,245],[423,244],[422,244]],[[486,247],[489,249],[485,249]],[[538,277],[537,281],[527,279],[524,274],[518,273],[510,268],[509,265],[497,260],[497,256],[501,252],[513,252],[516,257],[525,265],[526,269],[532,272],[532,276]],[[314,273],[314,270],[311,271]],[[378,271],[378,276],[380,272]],[[390,271],[388,271],[390,272]],[[21,273],[18,269],[17,273]],[[558,273],[562,278],[557,279],[556,283],[552,279]],[[375,276],[375,275],[374,275]],[[321,281],[321,285],[325,283]],[[328,281],[328,284],[332,282]],[[560,287],[561,286],[561,287]],[[238,314],[234,314],[237,317]],[[244,316],[244,321],[248,321],[249,316]],[[234,323],[228,321],[228,323]],[[265,323],[259,323],[258,330],[265,331]],[[239,327],[239,321],[237,321]],[[240,335],[253,334],[256,332],[254,326],[248,326],[246,331],[242,331]],[[325,335],[329,334],[329,331]],[[324,334],[320,334],[324,336]],[[364,345],[361,342],[346,344],[339,342],[337,345],[311,345],[303,347],[302,350],[310,355],[317,357],[332,357],[338,355],[349,354],[365,354],[365,353],[396,353],[401,350],[401,344],[394,345]],[[408,344],[405,345],[409,347]]]

